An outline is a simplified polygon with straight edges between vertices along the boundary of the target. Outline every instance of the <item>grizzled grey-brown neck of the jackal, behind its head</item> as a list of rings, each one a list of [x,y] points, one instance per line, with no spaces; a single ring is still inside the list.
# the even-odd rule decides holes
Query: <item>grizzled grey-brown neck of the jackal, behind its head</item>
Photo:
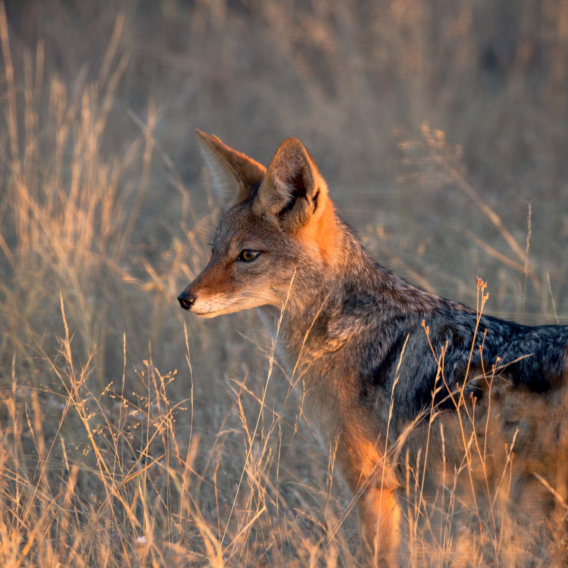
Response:
[[[374,261],[353,230],[334,215],[328,254],[296,268],[282,316],[278,343],[294,359],[300,350],[312,356],[335,351],[365,333],[380,333],[393,318],[458,307],[404,281]],[[447,305],[446,305],[447,304]],[[465,307],[462,307],[465,308]],[[261,308],[275,337],[279,311]]]

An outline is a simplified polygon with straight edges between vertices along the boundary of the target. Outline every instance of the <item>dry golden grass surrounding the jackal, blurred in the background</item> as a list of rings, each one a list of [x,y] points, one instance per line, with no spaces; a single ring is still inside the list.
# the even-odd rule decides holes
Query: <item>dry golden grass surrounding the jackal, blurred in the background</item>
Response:
[[[0,564],[357,565],[255,315],[177,306],[215,221],[191,133],[299,136],[384,264],[566,323],[566,1],[49,6],[0,9]],[[507,491],[470,521],[474,442],[425,502],[408,470],[403,562],[546,565]]]

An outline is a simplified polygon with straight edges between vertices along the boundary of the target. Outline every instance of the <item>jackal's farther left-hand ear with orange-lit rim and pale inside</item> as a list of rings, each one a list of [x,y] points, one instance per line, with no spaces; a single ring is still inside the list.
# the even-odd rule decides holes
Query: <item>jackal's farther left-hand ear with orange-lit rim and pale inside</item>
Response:
[[[211,182],[219,193],[224,207],[231,207],[246,201],[255,185],[266,174],[266,168],[242,152],[237,152],[216,136],[195,129],[199,147]]]

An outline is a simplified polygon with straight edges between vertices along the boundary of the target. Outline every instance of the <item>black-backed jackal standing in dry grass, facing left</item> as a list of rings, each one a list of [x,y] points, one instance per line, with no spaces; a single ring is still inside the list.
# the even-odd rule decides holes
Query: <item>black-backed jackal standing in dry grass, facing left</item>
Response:
[[[466,453],[473,477],[480,463],[485,478],[498,477],[503,441],[516,437],[519,487],[548,479],[562,518],[568,327],[478,317],[377,264],[336,215],[299,140],[285,140],[265,169],[215,136],[197,136],[223,208],[211,260],[179,303],[202,318],[258,308],[274,337],[289,298],[277,353],[302,373],[322,444],[339,440],[336,460],[358,495],[369,561],[395,565],[405,460],[424,458],[428,438],[435,477],[438,423],[446,460],[459,464]]]

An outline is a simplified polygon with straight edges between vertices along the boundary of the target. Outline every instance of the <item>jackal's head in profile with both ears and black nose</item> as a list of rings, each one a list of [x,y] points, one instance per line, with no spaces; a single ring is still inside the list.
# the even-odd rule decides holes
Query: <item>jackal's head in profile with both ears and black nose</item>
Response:
[[[335,213],[302,143],[283,141],[267,170],[216,136],[196,133],[222,211],[211,260],[179,294],[181,307],[203,318],[281,308],[293,278],[292,294],[299,286],[320,286]]]

